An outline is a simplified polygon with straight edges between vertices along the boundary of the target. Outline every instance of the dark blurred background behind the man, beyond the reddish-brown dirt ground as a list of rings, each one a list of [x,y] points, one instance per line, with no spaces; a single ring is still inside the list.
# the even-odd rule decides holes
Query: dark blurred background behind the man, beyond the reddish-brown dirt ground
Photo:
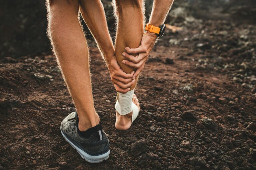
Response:
[[[152,1],[147,0],[146,16],[150,15]],[[256,19],[254,0],[179,0],[175,1],[166,23],[183,26],[187,22],[212,19],[232,19],[237,24],[253,23]],[[112,37],[115,20],[110,0],[103,0]],[[46,8],[44,0],[3,0],[0,2],[0,58],[49,53],[46,36]],[[84,24],[84,23],[83,23]],[[92,36],[84,24],[87,38]]]

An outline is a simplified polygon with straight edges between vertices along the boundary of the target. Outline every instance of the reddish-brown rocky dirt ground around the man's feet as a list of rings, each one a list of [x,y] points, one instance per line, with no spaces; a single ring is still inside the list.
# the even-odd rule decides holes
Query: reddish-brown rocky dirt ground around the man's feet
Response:
[[[219,16],[166,31],[140,76],[141,111],[126,131],[115,129],[116,92],[89,41],[95,107],[110,141],[99,164],[60,133],[75,108],[55,57],[0,60],[0,170],[256,169],[256,28]]]

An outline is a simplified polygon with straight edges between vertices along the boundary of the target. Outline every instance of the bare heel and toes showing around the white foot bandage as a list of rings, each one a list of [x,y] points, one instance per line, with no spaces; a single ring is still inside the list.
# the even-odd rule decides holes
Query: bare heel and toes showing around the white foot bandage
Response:
[[[132,102],[139,108],[140,110],[140,103],[137,99],[136,95],[133,94]],[[120,115],[116,111],[116,124],[115,127],[118,130],[127,130],[132,125],[132,112],[127,115]]]

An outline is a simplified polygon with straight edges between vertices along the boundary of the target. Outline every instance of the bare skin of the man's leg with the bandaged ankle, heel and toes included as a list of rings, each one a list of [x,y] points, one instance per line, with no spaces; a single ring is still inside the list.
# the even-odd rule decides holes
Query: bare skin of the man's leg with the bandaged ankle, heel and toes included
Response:
[[[115,52],[118,64],[122,70],[126,73],[134,71],[133,68],[128,67],[122,63],[126,59],[122,54],[125,51],[125,47],[136,48],[140,45],[143,35],[143,0],[115,0],[113,5],[117,17],[117,34],[115,41]],[[136,78],[137,82],[137,78]],[[131,87],[134,89],[136,83]],[[133,103],[139,108],[137,97],[134,95]],[[132,112],[127,115],[116,114],[115,127],[119,130],[126,130],[130,128],[132,121]]]

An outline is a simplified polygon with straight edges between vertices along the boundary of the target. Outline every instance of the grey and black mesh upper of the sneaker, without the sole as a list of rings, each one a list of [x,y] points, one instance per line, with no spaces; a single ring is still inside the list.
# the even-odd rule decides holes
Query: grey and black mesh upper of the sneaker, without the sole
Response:
[[[102,140],[99,132],[95,132],[90,137],[85,138],[78,132],[77,113],[69,114],[61,123],[61,130],[73,144],[84,150],[90,155],[101,154],[108,151],[108,137],[101,129]]]

